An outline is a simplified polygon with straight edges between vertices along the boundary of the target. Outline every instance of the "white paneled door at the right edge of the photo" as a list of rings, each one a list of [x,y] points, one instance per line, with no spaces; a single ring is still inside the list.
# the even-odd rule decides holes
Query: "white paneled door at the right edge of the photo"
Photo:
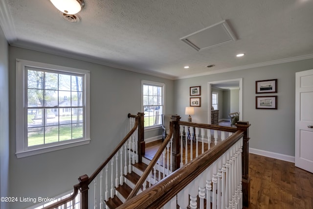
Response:
[[[313,70],[295,73],[295,166],[313,173]]]

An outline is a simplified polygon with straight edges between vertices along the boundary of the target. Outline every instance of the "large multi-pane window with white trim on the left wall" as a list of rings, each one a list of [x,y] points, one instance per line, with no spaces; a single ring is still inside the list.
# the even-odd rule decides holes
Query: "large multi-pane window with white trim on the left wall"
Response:
[[[89,71],[17,61],[17,156],[89,143]]]

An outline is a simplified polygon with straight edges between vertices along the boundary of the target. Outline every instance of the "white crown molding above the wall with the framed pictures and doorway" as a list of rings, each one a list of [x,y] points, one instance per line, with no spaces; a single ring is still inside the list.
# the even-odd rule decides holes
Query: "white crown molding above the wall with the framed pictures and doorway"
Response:
[[[264,67],[264,66],[269,66],[269,65],[277,65],[277,64],[295,62],[295,61],[307,60],[307,59],[313,59],[313,54],[301,55],[301,56],[284,58],[284,59],[279,59],[279,60],[272,60],[272,61],[262,62],[262,63],[255,63],[251,65],[239,66],[239,67],[234,67],[234,68],[214,70],[210,72],[198,73],[198,74],[187,75],[187,76],[179,76],[176,79],[179,80],[179,79],[184,79],[184,78],[193,78],[193,77],[199,77],[203,75],[211,75],[211,74],[230,72],[230,71],[235,71],[235,70],[245,70],[245,69],[258,68],[258,67]]]

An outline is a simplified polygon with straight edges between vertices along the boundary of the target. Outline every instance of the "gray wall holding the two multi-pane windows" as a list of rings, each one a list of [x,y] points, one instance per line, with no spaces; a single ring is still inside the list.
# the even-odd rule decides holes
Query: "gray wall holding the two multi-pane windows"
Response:
[[[88,145],[17,159],[15,141],[15,60],[24,59],[90,70],[90,137]],[[110,155],[129,131],[127,114],[141,111],[141,80],[165,83],[166,112],[174,112],[174,81],[70,59],[38,51],[9,47],[10,87],[10,196],[54,197],[72,189],[77,178],[91,173]],[[1,116],[2,118],[2,116]],[[122,127],[119,128],[119,127]],[[160,135],[156,130],[151,136]],[[12,203],[22,209],[32,203]]]

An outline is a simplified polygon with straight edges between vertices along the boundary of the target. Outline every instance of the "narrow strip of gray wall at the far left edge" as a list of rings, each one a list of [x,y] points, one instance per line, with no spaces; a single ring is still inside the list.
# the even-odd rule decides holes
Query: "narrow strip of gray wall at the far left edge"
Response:
[[[9,51],[0,27],[0,197],[9,196]],[[0,202],[0,208],[8,208]]]

